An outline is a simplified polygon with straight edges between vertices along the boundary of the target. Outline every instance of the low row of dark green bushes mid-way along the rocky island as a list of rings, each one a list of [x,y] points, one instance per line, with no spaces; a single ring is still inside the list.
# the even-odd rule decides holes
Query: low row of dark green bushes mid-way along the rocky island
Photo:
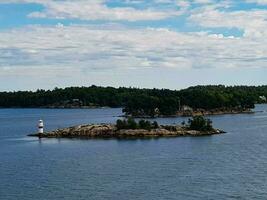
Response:
[[[151,130],[151,129],[157,129],[159,128],[159,125],[156,121],[151,123],[148,120],[140,120],[138,123],[133,118],[128,118],[127,120],[121,120],[118,119],[116,123],[116,127],[118,130],[121,129],[145,129],[145,130]]]

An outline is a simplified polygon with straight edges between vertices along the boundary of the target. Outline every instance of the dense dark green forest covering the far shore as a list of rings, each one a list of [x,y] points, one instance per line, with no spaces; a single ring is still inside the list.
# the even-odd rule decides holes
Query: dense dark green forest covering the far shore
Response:
[[[54,90],[0,92],[0,107],[123,107],[130,115],[174,115],[193,110],[250,109],[265,102],[267,86],[195,86],[183,90],[113,87],[68,87]]]

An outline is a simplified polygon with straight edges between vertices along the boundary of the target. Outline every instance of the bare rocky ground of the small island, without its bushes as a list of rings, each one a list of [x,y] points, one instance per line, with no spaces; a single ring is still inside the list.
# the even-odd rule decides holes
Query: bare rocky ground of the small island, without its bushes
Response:
[[[122,129],[117,130],[113,124],[89,124],[57,129],[43,134],[30,134],[39,138],[144,138],[144,137],[178,137],[178,136],[207,136],[225,133],[219,129],[211,131],[189,130],[178,125],[159,126],[157,129]]]

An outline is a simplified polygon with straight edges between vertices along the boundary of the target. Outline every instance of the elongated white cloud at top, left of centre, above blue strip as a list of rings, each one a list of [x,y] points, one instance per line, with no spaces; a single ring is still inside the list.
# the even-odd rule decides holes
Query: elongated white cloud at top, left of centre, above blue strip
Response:
[[[108,7],[104,0],[0,0],[0,3],[38,3],[44,10],[30,13],[32,18],[81,19],[81,20],[161,20],[181,15],[177,9],[159,10],[153,6],[146,9],[134,7]],[[139,3],[134,1],[131,3]]]

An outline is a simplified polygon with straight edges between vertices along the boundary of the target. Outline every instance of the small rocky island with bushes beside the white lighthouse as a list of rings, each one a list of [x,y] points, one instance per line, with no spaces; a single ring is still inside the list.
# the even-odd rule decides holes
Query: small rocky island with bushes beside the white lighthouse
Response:
[[[212,127],[212,122],[203,116],[195,116],[181,125],[158,125],[156,121],[133,118],[117,120],[116,124],[89,124],[57,129],[47,133],[28,136],[39,138],[145,138],[204,136],[225,133]]]

